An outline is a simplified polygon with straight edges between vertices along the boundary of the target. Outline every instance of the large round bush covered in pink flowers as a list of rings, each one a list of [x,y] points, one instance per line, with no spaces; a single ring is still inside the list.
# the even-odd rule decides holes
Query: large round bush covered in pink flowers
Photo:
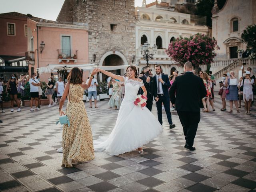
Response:
[[[180,36],[169,44],[166,53],[181,66],[190,61],[194,69],[198,69],[199,65],[206,65],[212,62],[216,56],[215,49],[220,48],[214,38],[198,33],[190,36],[190,38]]]

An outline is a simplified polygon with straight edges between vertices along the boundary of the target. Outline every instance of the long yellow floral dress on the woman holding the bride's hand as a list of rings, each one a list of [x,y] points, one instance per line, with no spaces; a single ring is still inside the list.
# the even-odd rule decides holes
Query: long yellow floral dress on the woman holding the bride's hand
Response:
[[[66,115],[70,126],[63,127],[62,166],[72,167],[72,160],[89,161],[94,159],[92,130],[83,102],[84,89],[79,84],[70,84]]]

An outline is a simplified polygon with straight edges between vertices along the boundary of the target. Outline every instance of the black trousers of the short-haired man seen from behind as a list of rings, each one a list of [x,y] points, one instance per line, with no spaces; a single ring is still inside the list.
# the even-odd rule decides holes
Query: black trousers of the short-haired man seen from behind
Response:
[[[177,111],[177,113],[183,127],[186,144],[193,146],[198,123],[200,122],[200,111]]]

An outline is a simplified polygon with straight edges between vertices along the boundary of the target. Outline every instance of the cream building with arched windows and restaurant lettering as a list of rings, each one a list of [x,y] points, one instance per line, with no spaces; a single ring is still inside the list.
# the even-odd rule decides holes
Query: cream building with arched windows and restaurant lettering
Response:
[[[185,6],[196,7],[194,1],[180,0],[162,0],[146,4],[142,2],[141,7],[136,7],[136,64],[140,68],[146,66],[146,60],[140,52],[140,46],[145,42],[152,47],[154,44],[158,47],[154,58],[149,60],[149,66],[160,64],[163,72],[173,74],[175,70],[180,72],[183,68],[166,54],[166,49],[170,42],[182,37],[201,33],[209,35],[209,29],[206,26],[206,17],[196,16],[194,14],[184,13]],[[154,53],[149,48],[149,53]],[[206,70],[206,66],[200,66],[200,70]]]

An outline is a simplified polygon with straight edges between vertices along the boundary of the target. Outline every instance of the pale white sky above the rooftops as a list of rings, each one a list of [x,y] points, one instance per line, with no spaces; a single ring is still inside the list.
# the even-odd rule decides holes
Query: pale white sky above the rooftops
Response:
[[[106,0],[107,1],[107,0]],[[155,0],[147,0],[147,4]],[[47,20],[56,20],[64,0],[0,0],[0,13],[19,12]],[[134,0],[135,7],[142,0]]]

